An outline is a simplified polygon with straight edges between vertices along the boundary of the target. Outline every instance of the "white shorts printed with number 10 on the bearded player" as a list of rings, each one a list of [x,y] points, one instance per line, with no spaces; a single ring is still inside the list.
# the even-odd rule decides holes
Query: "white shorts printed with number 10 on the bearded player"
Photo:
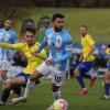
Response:
[[[41,64],[36,70],[45,77],[51,75],[52,82],[54,82],[56,86],[62,86],[66,77],[66,72],[59,70],[53,66],[47,66],[45,62]]]

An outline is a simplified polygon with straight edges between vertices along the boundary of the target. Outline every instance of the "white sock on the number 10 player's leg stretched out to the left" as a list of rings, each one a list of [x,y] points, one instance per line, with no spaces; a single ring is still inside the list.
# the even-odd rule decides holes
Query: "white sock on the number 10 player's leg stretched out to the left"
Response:
[[[34,87],[34,85],[35,85],[35,81],[31,81],[30,79],[28,79],[26,88],[25,88],[25,91],[24,91],[24,97],[25,98],[30,97],[32,88]]]

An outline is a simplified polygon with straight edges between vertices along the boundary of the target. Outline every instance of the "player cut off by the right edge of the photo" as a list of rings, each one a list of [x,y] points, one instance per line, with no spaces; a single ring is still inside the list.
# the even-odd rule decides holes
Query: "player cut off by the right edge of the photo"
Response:
[[[105,81],[105,95],[102,96],[102,99],[110,99],[109,92],[110,92],[110,44],[106,48],[107,53],[107,67],[108,72],[103,76],[103,81]]]

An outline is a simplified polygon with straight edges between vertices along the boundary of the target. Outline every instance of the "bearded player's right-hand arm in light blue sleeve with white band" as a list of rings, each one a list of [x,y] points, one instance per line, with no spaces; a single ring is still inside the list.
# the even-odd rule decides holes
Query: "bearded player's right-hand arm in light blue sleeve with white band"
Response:
[[[58,57],[58,58],[53,58],[53,63],[58,63],[58,62],[62,62],[62,61],[70,58],[70,56],[72,56],[72,47],[73,47],[73,44],[72,44],[72,41],[70,41],[65,46],[66,54],[61,56],[61,57]]]

